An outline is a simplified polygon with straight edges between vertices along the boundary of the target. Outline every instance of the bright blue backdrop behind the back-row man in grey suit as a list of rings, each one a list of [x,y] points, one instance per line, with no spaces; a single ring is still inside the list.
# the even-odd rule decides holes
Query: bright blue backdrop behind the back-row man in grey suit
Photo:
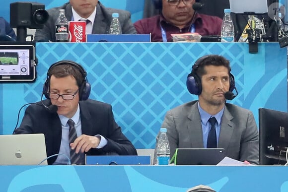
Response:
[[[4,17],[7,21],[10,20],[10,3],[16,0],[1,0],[0,16]],[[19,0],[27,1],[27,0]],[[33,0],[34,1],[34,0]],[[35,0],[36,2],[45,4],[45,9],[49,9],[56,6],[61,6],[69,0]],[[143,17],[144,0],[99,0],[106,7],[119,8],[128,10],[131,12],[131,19],[135,21]]]

